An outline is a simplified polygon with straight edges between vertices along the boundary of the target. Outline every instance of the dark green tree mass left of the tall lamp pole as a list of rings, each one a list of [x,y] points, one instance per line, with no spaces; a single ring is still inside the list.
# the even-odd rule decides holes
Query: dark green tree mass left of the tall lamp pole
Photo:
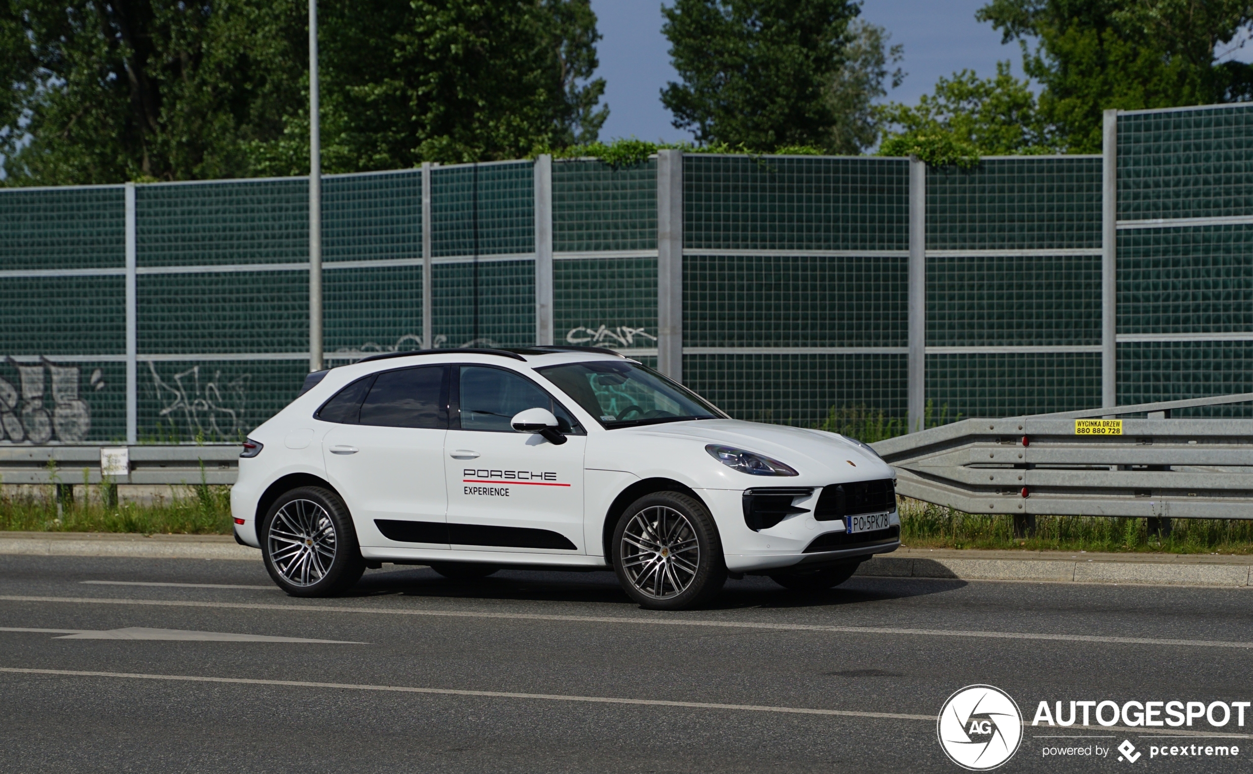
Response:
[[[0,8],[9,184],[247,174],[299,99],[301,5],[14,0]]]

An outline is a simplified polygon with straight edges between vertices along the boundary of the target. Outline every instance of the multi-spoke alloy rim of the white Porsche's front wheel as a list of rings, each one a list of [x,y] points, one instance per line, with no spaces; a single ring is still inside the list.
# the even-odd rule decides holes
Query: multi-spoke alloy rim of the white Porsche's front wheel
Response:
[[[628,522],[619,559],[626,579],[642,594],[672,599],[695,580],[700,545],[687,516],[658,505],[639,511]]]

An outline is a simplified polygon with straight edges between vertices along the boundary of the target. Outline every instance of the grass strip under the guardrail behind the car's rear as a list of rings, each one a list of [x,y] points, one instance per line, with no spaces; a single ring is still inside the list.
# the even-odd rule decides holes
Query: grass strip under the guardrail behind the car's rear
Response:
[[[229,535],[233,527],[228,486],[198,485],[185,497],[120,505],[117,490],[108,485],[75,488],[78,496],[73,500],[58,497],[53,486],[0,495],[0,530]]]

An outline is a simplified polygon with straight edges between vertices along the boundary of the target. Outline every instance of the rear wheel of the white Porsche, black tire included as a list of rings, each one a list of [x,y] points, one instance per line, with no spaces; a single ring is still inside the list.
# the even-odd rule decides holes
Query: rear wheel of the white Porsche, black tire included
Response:
[[[266,571],[292,596],[331,596],[366,571],[343,500],[321,486],[284,492],[261,522]]]

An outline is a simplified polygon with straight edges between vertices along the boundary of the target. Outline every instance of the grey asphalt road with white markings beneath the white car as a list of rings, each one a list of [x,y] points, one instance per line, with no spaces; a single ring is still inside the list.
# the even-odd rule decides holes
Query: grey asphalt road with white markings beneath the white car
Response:
[[[193,639],[119,639],[145,636]],[[608,572],[385,567],[298,600],[261,562],[0,556],[5,773],[960,771],[935,718],[970,684],[1027,720],[1041,700],[1253,700],[1253,590],[747,579],[664,614]],[[1152,733],[1189,730],[1026,726],[999,770],[1250,768],[1253,711],[1220,729],[1243,739]],[[1240,754],[1148,755],[1200,741]]]

